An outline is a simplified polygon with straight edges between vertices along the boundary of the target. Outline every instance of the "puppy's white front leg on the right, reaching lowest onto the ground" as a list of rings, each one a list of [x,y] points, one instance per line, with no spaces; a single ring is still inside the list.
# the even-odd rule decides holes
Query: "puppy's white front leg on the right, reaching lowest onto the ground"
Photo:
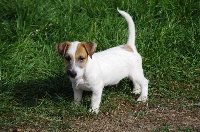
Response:
[[[102,91],[103,91],[103,86],[98,87],[92,91],[91,109],[89,110],[90,112],[94,112],[96,114],[99,112]]]

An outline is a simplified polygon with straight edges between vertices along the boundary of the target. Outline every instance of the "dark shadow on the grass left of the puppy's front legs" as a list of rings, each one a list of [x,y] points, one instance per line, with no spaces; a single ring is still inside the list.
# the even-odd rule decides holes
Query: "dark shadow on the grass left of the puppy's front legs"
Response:
[[[13,100],[26,107],[35,106],[38,100],[44,98],[53,101],[57,101],[58,98],[73,100],[71,82],[65,74],[49,77],[45,80],[32,80],[14,84],[12,88],[8,86],[4,88],[11,89],[9,93]]]

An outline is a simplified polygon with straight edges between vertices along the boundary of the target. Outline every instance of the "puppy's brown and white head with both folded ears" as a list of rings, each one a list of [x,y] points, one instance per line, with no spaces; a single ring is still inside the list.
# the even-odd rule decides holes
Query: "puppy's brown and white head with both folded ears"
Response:
[[[96,50],[92,42],[63,42],[56,45],[58,53],[66,63],[66,71],[70,78],[79,79],[84,75],[88,59]]]

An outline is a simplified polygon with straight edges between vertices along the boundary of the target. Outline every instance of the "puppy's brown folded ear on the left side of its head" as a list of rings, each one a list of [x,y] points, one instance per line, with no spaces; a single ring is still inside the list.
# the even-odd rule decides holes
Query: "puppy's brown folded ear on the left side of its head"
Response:
[[[70,42],[63,42],[56,44],[56,49],[61,56],[64,56],[70,46],[71,46]]]

